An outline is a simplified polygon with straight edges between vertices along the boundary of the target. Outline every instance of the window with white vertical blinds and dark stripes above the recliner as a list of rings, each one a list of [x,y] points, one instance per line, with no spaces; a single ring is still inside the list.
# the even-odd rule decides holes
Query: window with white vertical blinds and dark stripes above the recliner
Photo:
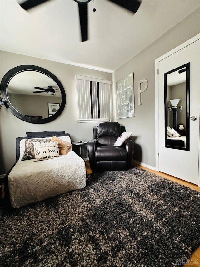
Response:
[[[79,122],[110,121],[111,81],[75,76],[78,94]]]

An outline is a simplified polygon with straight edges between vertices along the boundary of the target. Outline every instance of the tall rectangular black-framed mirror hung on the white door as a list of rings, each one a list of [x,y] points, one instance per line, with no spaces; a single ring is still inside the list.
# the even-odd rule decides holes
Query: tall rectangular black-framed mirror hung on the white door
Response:
[[[190,150],[190,63],[164,74],[165,147]]]

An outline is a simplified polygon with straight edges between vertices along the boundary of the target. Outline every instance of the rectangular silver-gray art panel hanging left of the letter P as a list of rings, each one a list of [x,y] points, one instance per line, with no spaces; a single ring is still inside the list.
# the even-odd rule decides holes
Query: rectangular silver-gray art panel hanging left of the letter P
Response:
[[[135,117],[133,72],[116,82],[118,119]]]

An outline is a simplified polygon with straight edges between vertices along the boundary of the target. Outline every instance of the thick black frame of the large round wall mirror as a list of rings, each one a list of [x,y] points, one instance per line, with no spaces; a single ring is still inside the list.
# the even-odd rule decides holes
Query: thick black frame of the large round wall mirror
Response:
[[[43,118],[43,119],[34,119],[34,118],[30,118],[27,117],[21,113],[19,113],[11,104],[11,102],[9,101],[8,98],[8,83],[9,81],[12,79],[13,76],[15,76],[17,73],[20,73],[22,71],[26,71],[26,70],[32,70],[32,71],[37,71],[40,73],[43,73],[47,76],[49,76],[51,79],[53,79],[55,81],[55,83],[58,85],[60,91],[61,91],[61,105],[58,109],[58,111],[53,114],[50,117],[47,118]],[[58,78],[52,74],[50,71],[43,69],[41,67],[38,66],[34,66],[34,65],[21,65],[21,66],[17,66],[13,69],[10,69],[2,78],[1,84],[0,84],[0,89],[1,92],[3,94],[3,102],[4,105],[7,107],[7,109],[17,118],[19,118],[22,121],[26,121],[26,122],[30,122],[30,123],[36,123],[36,124],[42,124],[42,123],[47,123],[50,121],[55,120],[56,118],[58,118],[58,116],[60,116],[60,114],[63,112],[65,104],[66,104],[66,94],[65,94],[65,90],[63,85],[61,84],[61,82],[58,80]]]

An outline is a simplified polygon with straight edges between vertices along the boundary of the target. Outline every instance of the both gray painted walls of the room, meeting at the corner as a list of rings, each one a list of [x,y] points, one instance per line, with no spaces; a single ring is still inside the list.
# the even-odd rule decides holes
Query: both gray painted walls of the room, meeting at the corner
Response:
[[[126,131],[133,132],[134,159],[139,162],[155,167],[154,60],[198,33],[200,33],[200,8],[112,74],[113,120],[124,125]],[[61,116],[47,124],[35,125],[21,121],[5,107],[2,107],[0,112],[0,173],[7,172],[15,162],[15,138],[25,136],[26,131],[66,131],[71,134],[73,141],[92,139],[93,126],[96,126],[97,123],[78,123],[78,103],[74,76],[78,74],[111,80],[111,74],[3,51],[0,51],[0,63],[0,79],[8,70],[18,65],[32,64],[45,68],[58,77],[67,95],[66,107]],[[115,83],[131,72],[134,72],[135,117],[117,119]],[[147,79],[149,86],[142,94],[142,105],[138,105],[137,82],[142,79]]]

